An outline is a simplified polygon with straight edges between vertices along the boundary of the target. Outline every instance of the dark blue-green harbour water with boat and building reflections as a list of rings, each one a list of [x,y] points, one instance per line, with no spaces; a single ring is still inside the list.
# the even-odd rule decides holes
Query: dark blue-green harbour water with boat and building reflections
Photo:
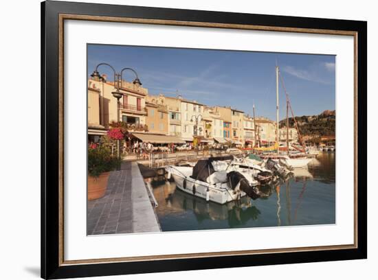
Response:
[[[287,181],[260,190],[269,196],[218,205],[175,183],[153,183],[162,231],[335,224],[335,152],[321,152],[308,170],[295,170]]]

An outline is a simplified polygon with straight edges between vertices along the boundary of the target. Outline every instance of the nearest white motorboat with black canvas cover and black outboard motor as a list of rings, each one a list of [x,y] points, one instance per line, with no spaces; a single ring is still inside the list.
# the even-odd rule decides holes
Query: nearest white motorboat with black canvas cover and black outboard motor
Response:
[[[169,165],[166,172],[181,191],[219,204],[240,200],[245,195],[252,199],[262,196],[252,174],[228,168],[232,160],[232,156],[224,156],[200,160],[194,167]]]

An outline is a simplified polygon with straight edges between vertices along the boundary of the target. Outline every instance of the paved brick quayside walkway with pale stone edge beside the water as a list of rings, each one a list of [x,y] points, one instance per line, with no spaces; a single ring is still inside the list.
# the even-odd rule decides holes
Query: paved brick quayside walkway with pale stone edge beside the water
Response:
[[[111,172],[103,198],[88,200],[87,234],[161,231],[137,163]]]

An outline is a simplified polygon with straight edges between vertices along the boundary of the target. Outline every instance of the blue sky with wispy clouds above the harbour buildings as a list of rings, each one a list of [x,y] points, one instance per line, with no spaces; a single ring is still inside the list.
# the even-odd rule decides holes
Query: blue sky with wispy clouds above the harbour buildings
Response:
[[[131,67],[151,94],[181,94],[209,106],[232,106],[276,119],[276,62],[296,115],[335,110],[335,56],[165,47],[88,45],[88,75],[100,62]],[[111,69],[99,72],[113,77]],[[133,80],[124,71],[124,80]],[[109,78],[109,80],[112,80]],[[280,85],[280,119],[285,118]]]

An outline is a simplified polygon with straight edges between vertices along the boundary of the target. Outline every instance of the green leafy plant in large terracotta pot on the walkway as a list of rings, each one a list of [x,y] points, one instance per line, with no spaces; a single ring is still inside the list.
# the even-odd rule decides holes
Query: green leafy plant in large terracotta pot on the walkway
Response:
[[[102,198],[107,190],[110,172],[120,167],[121,160],[111,155],[104,145],[88,148],[88,200]]]

